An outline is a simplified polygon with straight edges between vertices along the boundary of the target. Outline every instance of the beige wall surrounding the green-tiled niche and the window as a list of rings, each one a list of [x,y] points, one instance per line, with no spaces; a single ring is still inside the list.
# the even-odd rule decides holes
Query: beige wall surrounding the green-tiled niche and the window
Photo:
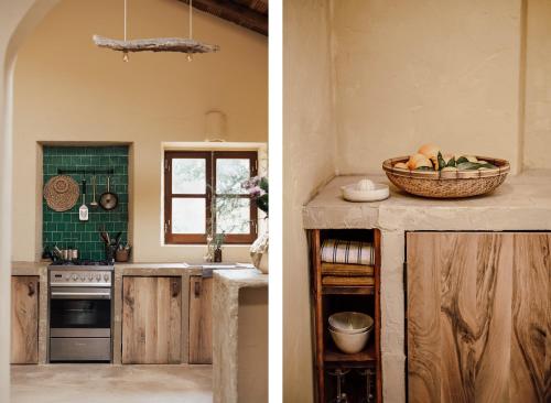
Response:
[[[133,143],[134,261],[201,261],[204,247],[161,246],[162,142],[203,141],[204,115],[227,116],[227,140],[268,138],[268,41],[212,15],[194,13],[194,36],[218,54],[121,54],[96,47],[93,34],[122,35],[121,3],[63,0],[19,54],[14,105],[12,258],[40,250],[39,141]],[[176,0],[129,2],[129,37],[185,36],[187,7]],[[39,181],[37,181],[39,178]],[[226,247],[225,259],[248,259]]]

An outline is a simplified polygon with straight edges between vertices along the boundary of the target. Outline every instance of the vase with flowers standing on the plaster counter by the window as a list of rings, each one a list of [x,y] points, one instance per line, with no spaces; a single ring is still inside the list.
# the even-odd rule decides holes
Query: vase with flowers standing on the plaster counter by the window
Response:
[[[242,183],[242,187],[249,193],[252,200],[257,203],[257,207],[266,214],[266,231],[257,238],[250,246],[250,257],[255,268],[262,273],[268,274],[268,177],[255,176]]]

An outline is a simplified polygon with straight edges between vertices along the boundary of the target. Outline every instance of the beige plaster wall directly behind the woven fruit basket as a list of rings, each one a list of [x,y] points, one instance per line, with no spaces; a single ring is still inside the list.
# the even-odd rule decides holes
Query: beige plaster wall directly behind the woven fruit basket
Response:
[[[334,4],[342,173],[425,142],[520,167],[521,0]]]

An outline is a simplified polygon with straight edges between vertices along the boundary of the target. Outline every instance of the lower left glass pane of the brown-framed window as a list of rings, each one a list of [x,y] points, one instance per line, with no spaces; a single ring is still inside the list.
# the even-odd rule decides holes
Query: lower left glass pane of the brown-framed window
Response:
[[[172,199],[172,233],[205,233],[206,199]]]

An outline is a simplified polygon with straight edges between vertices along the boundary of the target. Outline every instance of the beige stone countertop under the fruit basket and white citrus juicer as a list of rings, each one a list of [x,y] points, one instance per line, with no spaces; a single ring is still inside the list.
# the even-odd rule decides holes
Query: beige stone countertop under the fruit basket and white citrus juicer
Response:
[[[381,228],[388,230],[544,230],[551,229],[551,171],[509,175],[494,193],[465,199],[429,199],[390,184],[390,197],[350,203],[341,186],[369,177],[390,184],[383,175],[336,176],[303,208],[306,229]]]

